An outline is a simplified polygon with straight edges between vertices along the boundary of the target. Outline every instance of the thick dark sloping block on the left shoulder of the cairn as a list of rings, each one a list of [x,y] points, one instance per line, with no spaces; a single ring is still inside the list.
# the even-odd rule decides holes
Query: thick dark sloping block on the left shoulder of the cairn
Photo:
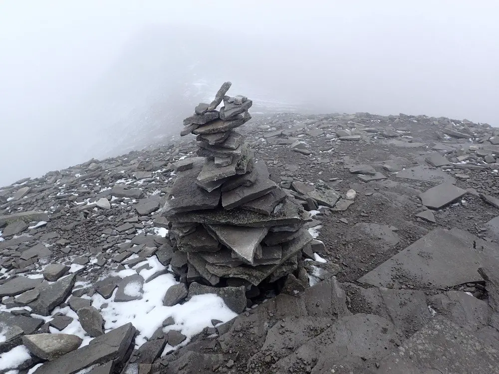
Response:
[[[214,209],[220,201],[220,190],[207,192],[196,185],[198,175],[204,166],[204,159],[196,159],[194,167],[179,173],[171,190],[174,197],[167,201],[163,211],[185,212],[200,209]],[[215,168],[214,169],[224,169]],[[235,174],[235,170],[234,170]]]

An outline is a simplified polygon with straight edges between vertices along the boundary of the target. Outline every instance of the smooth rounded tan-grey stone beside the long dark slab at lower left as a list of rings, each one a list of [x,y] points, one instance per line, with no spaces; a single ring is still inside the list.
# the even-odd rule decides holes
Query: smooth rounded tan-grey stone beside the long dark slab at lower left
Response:
[[[35,334],[22,337],[22,344],[43,360],[55,360],[77,349],[83,340],[70,334]]]

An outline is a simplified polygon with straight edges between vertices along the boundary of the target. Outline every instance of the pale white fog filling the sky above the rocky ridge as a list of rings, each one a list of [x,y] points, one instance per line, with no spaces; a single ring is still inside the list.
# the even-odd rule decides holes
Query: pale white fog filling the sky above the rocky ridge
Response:
[[[226,80],[268,110],[498,126],[498,14],[495,0],[2,0],[0,186],[171,135]]]

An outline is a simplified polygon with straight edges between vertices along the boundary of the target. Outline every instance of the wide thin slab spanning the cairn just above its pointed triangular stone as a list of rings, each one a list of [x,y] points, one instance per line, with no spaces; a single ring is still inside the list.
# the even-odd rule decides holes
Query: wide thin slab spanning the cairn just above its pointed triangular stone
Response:
[[[194,211],[171,215],[170,218],[180,223],[197,222],[203,224],[230,224],[244,227],[273,227],[302,223],[310,220],[310,214],[303,207],[284,200],[277,205],[270,215],[260,214],[245,209],[222,209],[217,208],[206,211]],[[168,217],[168,216],[167,216]]]

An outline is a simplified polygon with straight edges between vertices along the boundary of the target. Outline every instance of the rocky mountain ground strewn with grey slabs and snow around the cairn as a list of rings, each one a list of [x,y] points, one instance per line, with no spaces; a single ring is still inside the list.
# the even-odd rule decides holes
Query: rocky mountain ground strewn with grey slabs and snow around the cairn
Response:
[[[0,373],[499,373],[497,129],[282,113],[241,133],[314,213],[311,287],[179,282],[160,213],[194,137],[90,160],[0,189]]]

